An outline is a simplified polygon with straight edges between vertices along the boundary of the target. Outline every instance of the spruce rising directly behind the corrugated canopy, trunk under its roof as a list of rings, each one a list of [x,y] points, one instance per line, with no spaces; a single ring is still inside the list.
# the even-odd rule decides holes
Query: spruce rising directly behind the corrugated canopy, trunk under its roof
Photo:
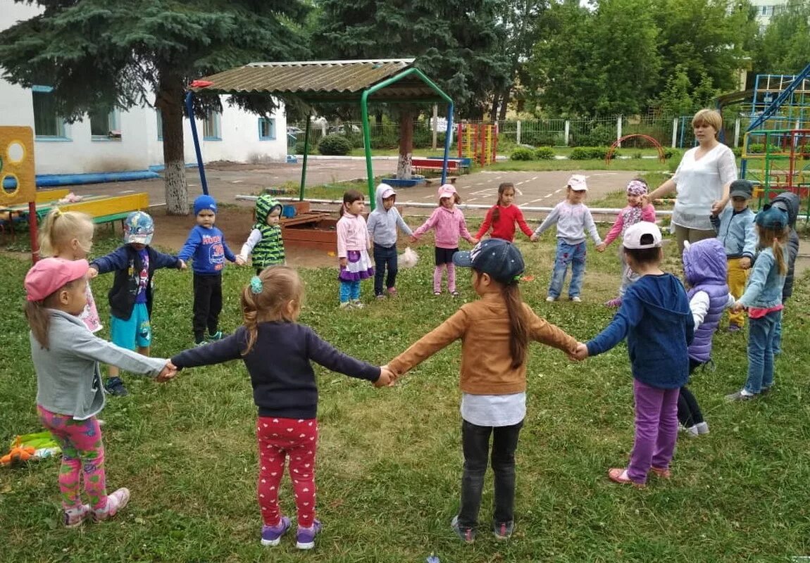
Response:
[[[328,58],[416,57],[416,67],[450,95],[461,116],[483,116],[488,95],[507,83],[493,0],[322,0],[318,7],[313,48]],[[409,124],[418,109],[398,108],[400,178],[411,177]]]

